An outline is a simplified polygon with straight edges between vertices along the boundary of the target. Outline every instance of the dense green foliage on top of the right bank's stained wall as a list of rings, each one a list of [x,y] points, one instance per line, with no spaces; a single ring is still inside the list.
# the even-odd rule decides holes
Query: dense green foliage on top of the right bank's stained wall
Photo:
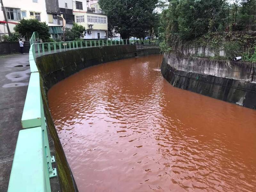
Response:
[[[245,30],[256,23],[253,15],[256,0],[233,4],[226,0],[170,0],[168,10],[162,13],[165,21],[161,25],[167,43],[173,47],[172,40],[177,37],[186,42],[209,33]]]

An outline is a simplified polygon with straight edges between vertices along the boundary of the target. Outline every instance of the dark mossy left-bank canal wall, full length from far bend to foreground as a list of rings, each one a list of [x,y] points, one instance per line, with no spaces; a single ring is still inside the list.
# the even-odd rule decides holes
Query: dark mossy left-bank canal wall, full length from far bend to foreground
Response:
[[[78,191],[78,189],[61,146],[58,133],[52,121],[52,116],[48,106],[47,91],[54,84],[84,68],[109,61],[132,58],[135,56],[158,54],[159,52],[160,49],[156,47],[140,47],[140,49],[137,50],[136,45],[115,45],[74,49],[65,52],[47,54],[36,58],[36,66],[41,79],[40,87],[45,109],[45,117],[55,146],[57,170],[62,191],[71,192]]]

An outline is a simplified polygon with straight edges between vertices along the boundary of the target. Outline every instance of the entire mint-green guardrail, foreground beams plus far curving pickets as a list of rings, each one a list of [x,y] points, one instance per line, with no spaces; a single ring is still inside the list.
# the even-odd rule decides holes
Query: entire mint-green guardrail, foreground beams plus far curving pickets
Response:
[[[24,130],[19,132],[12,171],[9,180],[8,192],[16,191],[44,191],[50,192],[50,178],[57,176],[55,162],[50,154],[47,124],[44,116],[44,105],[40,89],[40,76],[36,67],[36,56],[62,52],[72,49],[108,46],[108,45],[158,45],[158,40],[90,40],[36,43],[36,32],[33,33],[29,50],[30,79],[28,92],[21,117]]]

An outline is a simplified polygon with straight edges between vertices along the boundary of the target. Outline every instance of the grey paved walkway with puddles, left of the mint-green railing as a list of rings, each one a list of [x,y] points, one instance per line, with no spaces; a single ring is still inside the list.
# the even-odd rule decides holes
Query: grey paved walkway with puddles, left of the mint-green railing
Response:
[[[28,53],[0,55],[0,191],[8,188],[12,160],[21,127],[30,68]],[[15,67],[20,66],[20,67]],[[51,152],[54,153],[52,140]],[[26,165],[24,165],[26,166]],[[56,166],[54,166],[56,167]],[[52,191],[60,191],[58,177],[51,180]]]

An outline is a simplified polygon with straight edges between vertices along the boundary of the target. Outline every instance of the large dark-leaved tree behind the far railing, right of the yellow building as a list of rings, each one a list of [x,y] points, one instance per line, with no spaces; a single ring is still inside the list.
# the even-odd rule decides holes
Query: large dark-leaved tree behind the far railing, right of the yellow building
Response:
[[[145,31],[152,28],[157,3],[158,0],[99,0],[100,8],[108,15],[108,23],[123,39],[131,35],[145,36]]]

